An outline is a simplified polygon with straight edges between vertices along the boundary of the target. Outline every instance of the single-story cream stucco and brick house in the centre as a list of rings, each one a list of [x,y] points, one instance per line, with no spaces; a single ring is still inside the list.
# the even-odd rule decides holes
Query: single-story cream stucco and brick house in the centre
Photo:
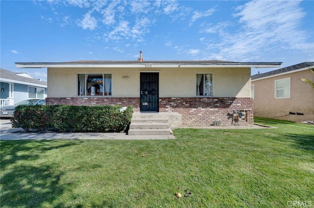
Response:
[[[186,125],[253,124],[251,67],[281,63],[227,61],[74,61],[16,63],[48,68],[46,104],[133,106],[135,112],[176,112]]]

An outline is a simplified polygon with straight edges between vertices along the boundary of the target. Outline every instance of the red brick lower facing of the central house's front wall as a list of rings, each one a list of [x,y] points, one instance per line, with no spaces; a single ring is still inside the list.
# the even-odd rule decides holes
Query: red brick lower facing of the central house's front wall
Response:
[[[46,98],[47,105],[121,105],[140,110],[137,97],[61,97]],[[233,111],[245,111],[246,120],[239,119],[239,125],[253,124],[253,102],[251,98],[235,97],[160,97],[159,112],[176,112],[182,115],[183,125],[211,125],[221,121],[232,125]]]

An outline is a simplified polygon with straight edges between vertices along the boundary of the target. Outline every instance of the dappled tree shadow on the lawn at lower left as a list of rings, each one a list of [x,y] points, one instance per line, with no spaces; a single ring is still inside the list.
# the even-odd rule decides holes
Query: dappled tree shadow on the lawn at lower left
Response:
[[[51,142],[1,142],[1,207],[45,207],[63,193],[67,185],[59,181],[64,173],[54,164],[32,162],[47,151],[77,143],[67,141],[54,146]]]

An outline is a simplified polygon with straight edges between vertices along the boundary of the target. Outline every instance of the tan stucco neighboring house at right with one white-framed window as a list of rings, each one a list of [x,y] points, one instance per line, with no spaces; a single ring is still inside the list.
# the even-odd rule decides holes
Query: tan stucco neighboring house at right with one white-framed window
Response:
[[[254,116],[290,121],[314,120],[314,62],[255,74],[251,77]]]

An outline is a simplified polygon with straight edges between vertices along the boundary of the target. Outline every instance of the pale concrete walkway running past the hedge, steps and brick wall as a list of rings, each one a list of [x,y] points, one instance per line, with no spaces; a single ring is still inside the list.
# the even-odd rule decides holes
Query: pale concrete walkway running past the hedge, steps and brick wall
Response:
[[[198,128],[198,129],[260,129],[267,128],[259,125],[252,126],[185,126],[177,128]],[[10,119],[0,119],[0,140],[23,140],[23,139],[176,139],[174,135],[127,135],[125,133],[21,133],[23,129],[12,128]]]

